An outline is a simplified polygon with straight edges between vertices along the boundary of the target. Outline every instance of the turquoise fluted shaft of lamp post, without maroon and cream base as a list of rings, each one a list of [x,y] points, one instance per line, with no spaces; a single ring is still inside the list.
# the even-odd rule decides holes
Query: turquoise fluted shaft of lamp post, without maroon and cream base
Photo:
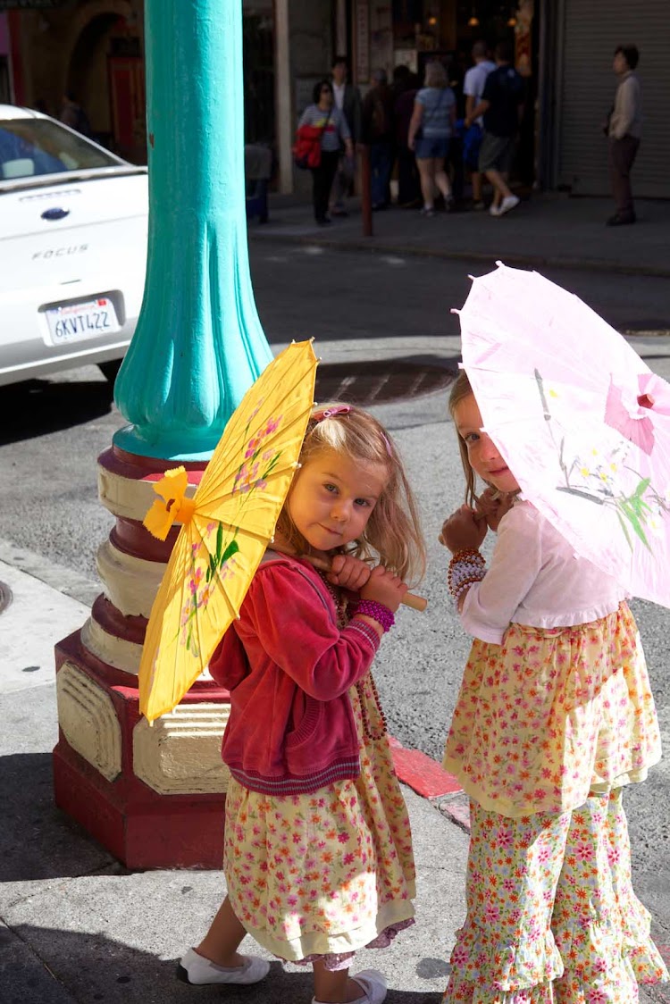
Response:
[[[246,238],[241,0],[146,0],[149,264],[117,379],[129,453],[206,460],[272,358]]]

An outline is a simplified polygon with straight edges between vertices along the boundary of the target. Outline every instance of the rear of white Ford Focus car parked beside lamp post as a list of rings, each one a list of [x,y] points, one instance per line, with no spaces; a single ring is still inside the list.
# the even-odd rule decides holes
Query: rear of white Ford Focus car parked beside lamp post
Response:
[[[0,385],[96,363],[114,380],[147,260],[147,168],[0,104]]]

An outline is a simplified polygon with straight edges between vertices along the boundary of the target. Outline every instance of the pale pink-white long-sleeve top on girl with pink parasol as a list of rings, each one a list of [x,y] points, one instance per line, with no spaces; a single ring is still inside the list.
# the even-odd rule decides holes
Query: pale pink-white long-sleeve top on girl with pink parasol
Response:
[[[461,621],[468,635],[500,645],[511,621],[532,628],[589,623],[614,613],[626,596],[529,502],[517,501],[500,520],[491,563],[468,589]]]

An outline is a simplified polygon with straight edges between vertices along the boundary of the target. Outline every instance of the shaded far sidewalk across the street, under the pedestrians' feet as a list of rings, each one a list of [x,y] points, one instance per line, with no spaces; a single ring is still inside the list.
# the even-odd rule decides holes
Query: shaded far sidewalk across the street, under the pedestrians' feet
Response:
[[[350,216],[317,227],[311,206],[296,197],[271,196],[266,224],[250,222],[252,241],[295,241],[341,250],[482,261],[521,267],[582,268],[670,277],[670,201],[636,202],[634,226],[606,227],[607,199],[533,194],[505,216],[465,210],[426,219],[395,206],[373,213],[373,236],[363,236],[360,202]]]

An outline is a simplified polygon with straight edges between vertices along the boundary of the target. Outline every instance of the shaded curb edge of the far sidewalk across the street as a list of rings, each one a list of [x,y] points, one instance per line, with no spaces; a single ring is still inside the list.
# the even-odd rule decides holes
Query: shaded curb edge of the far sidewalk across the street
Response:
[[[255,236],[253,231],[249,231],[249,240],[254,244],[309,244],[316,247],[327,248],[329,251],[369,251],[371,254],[395,254],[406,255],[417,258],[441,258],[449,261],[480,261],[487,265],[495,264],[499,259],[504,259],[505,264],[520,267],[555,268],[566,270],[584,270],[587,272],[602,272],[615,275],[637,275],[649,276],[650,278],[667,279],[670,278],[670,268],[657,268],[646,265],[622,265],[619,262],[611,262],[602,258],[582,259],[582,258],[555,258],[551,255],[522,255],[522,254],[486,254],[481,251],[450,251],[445,248],[428,248],[420,246],[406,246],[397,244],[373,244],[375,238],[365,240],[333,241],[319,237],[314,234],[281,234],[267,233],[263,236]]]

